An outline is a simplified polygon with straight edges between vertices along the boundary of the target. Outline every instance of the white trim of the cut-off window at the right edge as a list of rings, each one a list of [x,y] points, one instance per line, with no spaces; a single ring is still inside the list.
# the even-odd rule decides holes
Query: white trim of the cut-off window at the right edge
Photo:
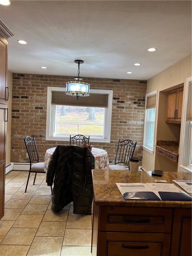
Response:
[[[182,171],[189,171],[192,172],[192,167],[188,165],[188,157],[189,157],[189,150],[190,150],[190,138],[187,136],[190,131],[190,122],[187,122],[187,103],[188,103],[188,95],[189,95],[189,84],[192,82],[192,77],[186,79],[186,86],[185,86],[185,95],[183,96],[184,99],[184,111],[183,111],[183,127],[182,127],[182,143],[181,143],[181,158],[180,158],[180,165]]]

